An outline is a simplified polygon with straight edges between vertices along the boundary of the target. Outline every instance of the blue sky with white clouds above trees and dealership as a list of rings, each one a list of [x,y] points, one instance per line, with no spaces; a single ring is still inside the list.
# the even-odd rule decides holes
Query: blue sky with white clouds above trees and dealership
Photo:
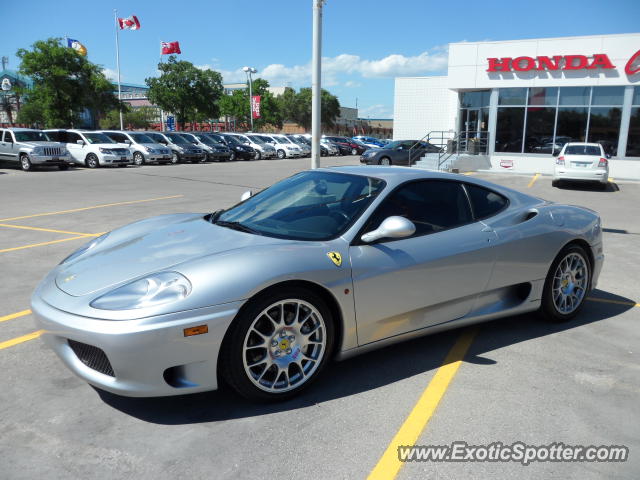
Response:
[[[115,78],[114,9],[136,15],[120,32],[123,83],[157,75],[160,41],[179,41],[182,60],[246,81],[243,66],[272,86],[311,85],[313,0],[98,0],[3,4],[0,56],[17,69],[18,48],[36,40],[79,40]],[[26,24],[22,21],[26,21]],[[393,116],[394,78],[446,74],[448,44],[484,40],[635,33],[640,0],[328,0],[323,13],[322,86],[363,118]],[[255,78],[254,77],[254,78]]]

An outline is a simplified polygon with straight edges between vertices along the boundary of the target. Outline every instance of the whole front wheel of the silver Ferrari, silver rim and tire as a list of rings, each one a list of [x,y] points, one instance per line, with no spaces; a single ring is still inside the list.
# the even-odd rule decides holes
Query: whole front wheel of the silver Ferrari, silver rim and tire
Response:
[[[283,400],[313,382],[333,347],[326,302],[302,288],[261,295],[245,306],[225,337],[221,371],[254,401]]]

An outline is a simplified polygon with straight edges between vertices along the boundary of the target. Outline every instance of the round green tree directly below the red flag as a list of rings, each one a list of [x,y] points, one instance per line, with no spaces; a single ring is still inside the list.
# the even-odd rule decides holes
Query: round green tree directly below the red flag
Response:
[[[158,70],[159,77],[145,80],[149,101],[175,114],[178,125],[220,116],[218,102],[223,89],[219,72],[200,70],[174,55],[166,63],[159,63]]]

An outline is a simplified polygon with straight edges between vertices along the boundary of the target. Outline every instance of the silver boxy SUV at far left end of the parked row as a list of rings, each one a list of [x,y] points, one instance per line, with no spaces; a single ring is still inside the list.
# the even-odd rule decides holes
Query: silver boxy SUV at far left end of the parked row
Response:
[[[52,142],[46,133],[31,128],[0,128],[0,160],[20,162],[25,172],[40,165],[66,170],[72,162],[64,145]]]

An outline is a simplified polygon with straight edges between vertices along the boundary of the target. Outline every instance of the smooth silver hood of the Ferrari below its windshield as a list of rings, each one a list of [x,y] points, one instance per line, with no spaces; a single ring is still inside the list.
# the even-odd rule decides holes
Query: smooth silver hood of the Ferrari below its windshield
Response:
[[[219,227],[203,217],[163,215],[114,230],[95,251],[61,265],[56,285],[69,295],[88,295],[196,258],[292,243]]]

